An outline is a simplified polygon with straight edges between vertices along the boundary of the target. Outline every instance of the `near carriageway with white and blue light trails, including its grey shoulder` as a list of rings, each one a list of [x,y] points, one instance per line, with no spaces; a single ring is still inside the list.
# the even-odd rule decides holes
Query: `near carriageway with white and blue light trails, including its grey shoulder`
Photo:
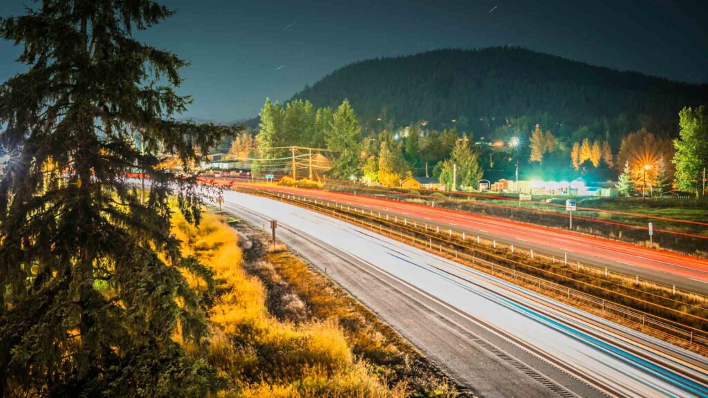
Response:
[[[708,397],[708,359],[287,203],[224,193],[481,397]]]

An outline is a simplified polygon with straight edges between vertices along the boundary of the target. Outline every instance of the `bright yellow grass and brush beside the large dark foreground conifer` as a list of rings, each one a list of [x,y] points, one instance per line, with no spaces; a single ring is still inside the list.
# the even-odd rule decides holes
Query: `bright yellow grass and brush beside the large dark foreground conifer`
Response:
[[[210,312],[215,330],[205,356],[234,385],[251,386],[239,395],[391,395],[364,363],[355,360],[334,320],[296,326],[268,313],[263,284],[241,267],[238,234],[216,215],[205,214],[198,227],[176,215],[172,233],[182,241],[185,256],[195,256],[215,273],[219,295]],[[190,284],[203,283],[194,275],[185,276]],[[193,353],[194,348],[186,349]]]

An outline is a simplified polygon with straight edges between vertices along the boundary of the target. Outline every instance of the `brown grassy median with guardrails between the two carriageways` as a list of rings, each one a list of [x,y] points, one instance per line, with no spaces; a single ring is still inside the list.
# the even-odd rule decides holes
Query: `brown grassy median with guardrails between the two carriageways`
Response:
[[[306,207],[309,210],[321,212],[326,215],[331,215],[338,219],[360,225],[366,229],[404,241],[406,244],[411,244],[413,246],[417,246],[418,248],[426,249],[427,251],[433,251],[435,254],[454,259],[458,263],[462,263],[465,266],[495,275],[504,280],[513,281],[513,283],[522,285],[530,290],[542,292],[547,297],[552,297],[556,300],[573,305],[574,307],[588,310],[588,312],[592,312],[593,314],[600,315],[606,319],[624,324],[625,326],[632,327],[632,329],[642,331],[646,334],[651,334],[671,343],[678,343],[679,345],[690,348],[692,351],[696,351],[702,355],[708,355],[708,333],[700,329],[685,326],[669,319],[663,319],[653,314],[642,312],[631,307],[627,307],[626,305],[613,302],[612,300],[589,295],[586,292],[581,292],[580,290],[569,288],[547,279],[539,278],[535,275],[529,275],[518,269],[503,266],[501,264],[494,263],[493,261],[480,258],[479,256],[474,256],[474,254],[455,250],[454,248],[447,246],[451,245],[454,247],[457,245],[454,241],[441,239],[441,237],[435,237],[432,234],[428,237],[428,240],[421,239],[416,237],[416,234],[419,233],[415,231],[409,231],[413,232],[413,234],[404,233],[404,228],[401,227],[408,227],[411,224],[404,218],[399,218],[397,216],[392,218],[391,215],[385,215],[388,218],[388,220],[386,220],[384,215],[379,212],[367,213],[366,210],[358,207],[344,205],[339,205],[339,207],[336,207],[336,203],[323,200],[313,200],[311,198],[305,198],[297,195],[272,193],[255,188],[241,188],[241,191],[251,191],[256,195],[287,201],[288,203]],[[396,227],[396,229],[384,227],[384,224],[387,224],[387,222],[388,225],[392,225]],[[433,232],[432,228],[430,232]],[[435,232],[438,232],[437,228],[435,229]],[[445,231],[443,230],[440,235],[445,235],[444,232]],[[448,230],[448,236],[453,236],[455,233],[456,232],[452,232],[451,229]],[[435,244],[433,244],[433,239],[435,239]],[[476,247],[467,249],[480,251],[479,248]],[[674,309],[670,309],[668,307],[663,308],[675,311]],[[708,322],[708,319],[702,317],[696,317],[685,312],[681,312],[681,314],[695,317],[700,319],[702,322]]]

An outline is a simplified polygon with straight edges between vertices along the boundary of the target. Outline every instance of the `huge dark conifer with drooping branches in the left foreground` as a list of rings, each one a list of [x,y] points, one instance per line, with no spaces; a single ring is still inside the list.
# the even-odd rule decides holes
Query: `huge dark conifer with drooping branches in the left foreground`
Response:
[[[170,235],[168,197],[188,220],[200,197],[194,178],[159,169],[156,155],[189,164],[226,129],[174,120],[189,103],[174,91],[185,62],[132,37],[172,13],[147,0],[47,0],[0,21],[29,66],[0,87],[0,151],[11,154],[0,181],[2,397],[218,386],[173,341],[178,329],[185,341],[206,329],[181,274],[202,268]],[[152,181],[144,201],[125,178],[132,168]]]

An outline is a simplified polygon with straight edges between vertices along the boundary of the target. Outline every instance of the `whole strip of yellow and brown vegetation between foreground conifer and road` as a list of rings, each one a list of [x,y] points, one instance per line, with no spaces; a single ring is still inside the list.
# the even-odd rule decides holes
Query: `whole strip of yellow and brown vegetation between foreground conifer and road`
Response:
[[[209,296],[205,301],[212,307],[207,350],[183,344],[189,356],[204,358],[225,380],[219,396],[454,395],[455,388],[442,382],[444,388],[436,389],[427,387],[427,377],[413,381],[401,370],[408,365],[402,358],[411,353],[391,343],[403,344],[395,340],[397,335],[379,333],[372,326],[375,319],[353,307],[355,300],[320,286],[326,278],[308,271],[307,264],[289,252],[268,254],[260,241],[249,241],[246,266],[237,232],[216,215],[206,214],[198,227],[176,215],[173,225],[183,254],[210,270],[215,283],[207,293],[202,287],[208,280],[184,273],[193,289]],[[287,288],[278,288],[282,281]],[[304,286],[309,290],[302,290]]]

